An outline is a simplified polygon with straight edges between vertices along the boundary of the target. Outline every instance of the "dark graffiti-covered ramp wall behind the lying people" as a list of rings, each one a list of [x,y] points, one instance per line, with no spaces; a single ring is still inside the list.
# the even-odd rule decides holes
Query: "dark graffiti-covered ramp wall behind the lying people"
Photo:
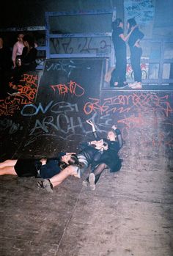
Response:
[[[30,96],[21,93],[10,99],[15,100],[10,111],[4,110],[7,101],[1,105],[3,156],[9,154],[9,146],[11,157],[76,152],[80,142],[93,139],[86,120],[95,122],[100,137],[116,124],[129,151],[144,155],[161,148],[172,150],[173,92],[102,89],[104,62],[47,59],[39,89],[34,90],[37,98],[31,89]],[[29,81],[33,87],[36,80]],[[29,92],[28,85],[21,92]]]

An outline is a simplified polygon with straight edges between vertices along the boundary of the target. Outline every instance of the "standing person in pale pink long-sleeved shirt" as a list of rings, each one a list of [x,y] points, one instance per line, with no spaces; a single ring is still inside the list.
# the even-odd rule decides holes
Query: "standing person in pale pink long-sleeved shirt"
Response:
[[[22,55],[23,51],[23,37],[24,34],[18,34],[18,41],[13,45],[12,48],[12,62],[13,62],[13,67],[16,67],[16,62],[17,59]]]

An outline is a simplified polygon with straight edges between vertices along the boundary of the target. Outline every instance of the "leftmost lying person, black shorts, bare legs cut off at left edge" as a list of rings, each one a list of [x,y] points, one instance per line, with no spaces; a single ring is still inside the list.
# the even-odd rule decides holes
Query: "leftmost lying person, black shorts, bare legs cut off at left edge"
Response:
[[[59,160],[72,153],[59,153],[56,158],[48,159],[14,159],[0,163],[0,175],[17,175],[18,177],[51,178],[60,172]]]

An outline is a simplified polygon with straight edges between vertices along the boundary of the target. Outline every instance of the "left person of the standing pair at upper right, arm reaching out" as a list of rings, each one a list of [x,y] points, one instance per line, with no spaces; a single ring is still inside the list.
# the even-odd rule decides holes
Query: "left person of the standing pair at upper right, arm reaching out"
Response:
[[[112,23],[112,43],[114,44],[114,53],[116,58],[116,67],[111,73],[111,87],[123,87],[127,85],[126,82],[126,41],[130,37],[133,30],[130,30],[127,36],[124,35],[123,23],[121,18],[117,18]]]

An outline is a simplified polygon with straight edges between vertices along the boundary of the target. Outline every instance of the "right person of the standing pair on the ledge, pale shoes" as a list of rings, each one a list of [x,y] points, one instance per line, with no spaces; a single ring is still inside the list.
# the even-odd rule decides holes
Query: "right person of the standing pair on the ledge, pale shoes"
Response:
[[[133,32],[130,34],[128,39],[128,45],[130,48],[130,61],[131,67],[134,73],[134,83],[129,84],[133,89],[141,89],[141,54],[142,49],[140,46],[140,40],[144,37],[144,34],[139,30],[134,18],[128,19],[128,32]],[[135,29],[134,29],[135,28]]]

